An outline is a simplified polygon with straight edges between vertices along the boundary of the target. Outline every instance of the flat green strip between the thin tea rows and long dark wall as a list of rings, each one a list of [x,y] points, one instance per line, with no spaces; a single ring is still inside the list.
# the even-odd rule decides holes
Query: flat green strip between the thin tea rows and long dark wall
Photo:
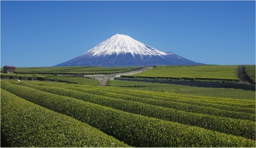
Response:
[[[175,84],[160,84],[142,81],[124,81],[124,80],[108,80],[108,86],[125,87],[129,90],[148,90],[153,92],[170,92],[186,95],[198,96],[216,96],[229,97],[234,99],[251,99],[255,100],[255,91],[242,89],[227,89],[227,88],[210,88],[210,87],[195,87],[182,86]]]

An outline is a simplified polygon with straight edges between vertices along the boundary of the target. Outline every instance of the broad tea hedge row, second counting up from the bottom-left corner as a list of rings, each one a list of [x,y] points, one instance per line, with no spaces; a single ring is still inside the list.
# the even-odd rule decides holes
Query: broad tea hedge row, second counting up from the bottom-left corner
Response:
[[[5,90],[73,116],[136,147],[255,147],[255,141],[177,122],[130,114],[82,100],[4,82]]]

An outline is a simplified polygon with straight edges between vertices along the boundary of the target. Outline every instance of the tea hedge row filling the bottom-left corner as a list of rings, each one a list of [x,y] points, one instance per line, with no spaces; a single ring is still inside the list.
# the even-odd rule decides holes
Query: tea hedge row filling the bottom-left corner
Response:
[[[128,147],[88,124],[1,89],[3,137],[8,147]]]

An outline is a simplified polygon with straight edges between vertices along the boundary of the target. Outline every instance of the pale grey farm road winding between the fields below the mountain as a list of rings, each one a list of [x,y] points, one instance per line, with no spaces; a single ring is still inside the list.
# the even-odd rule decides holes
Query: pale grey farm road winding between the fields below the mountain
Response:
[[[120,77],[121,75],[138,74],[138,73],[141,73],[142,71],[146,71],[146,70],[149,70],[151,68],[153,68],[153,67],[144,67],[144,68],[141,68],[139,70],[130,71],[130,72],[127,72],[127,73],[105,74],[105,75],[104,74],[101,74],[101,75],[87,75],[87,77],[89,76],[90,78],[98,80],[99,85],[101,85],[101,86],[106,86],[108,80],[110,80],[112,78]]]

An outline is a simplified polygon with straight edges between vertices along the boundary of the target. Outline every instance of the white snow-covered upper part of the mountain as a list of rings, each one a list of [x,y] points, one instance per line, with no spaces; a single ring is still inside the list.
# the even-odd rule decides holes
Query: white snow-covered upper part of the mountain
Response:
[[[110,37],[110,39],[101,42],[99,45],[95,46],[95,48],[90,49],[84,54],[89,54],[92,56],[106,56],[113,55],[114,53],[117,55],[122,53],[131,53],[133,56],[167,55],[166,52],[158,51],[157,49],[145,45],[124,34],[115,34],[114,36]]]

